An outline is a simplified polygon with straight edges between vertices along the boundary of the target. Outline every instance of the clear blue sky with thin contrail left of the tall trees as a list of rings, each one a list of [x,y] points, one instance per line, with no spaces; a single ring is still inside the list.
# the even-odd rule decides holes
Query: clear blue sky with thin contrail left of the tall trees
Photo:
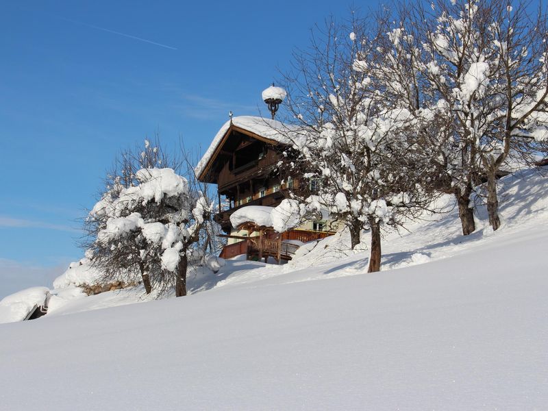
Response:
[[[113,4],[115,3],[115,4]],[[138,3],[138,4],[137,4]],[[362,3],[361,8],[366,5]],[[78,219],[116,152],[156,132],[208,147],[338,1],[0,5],[0,297],[82,256]],[[13,281],[12,281],[13,280]]]

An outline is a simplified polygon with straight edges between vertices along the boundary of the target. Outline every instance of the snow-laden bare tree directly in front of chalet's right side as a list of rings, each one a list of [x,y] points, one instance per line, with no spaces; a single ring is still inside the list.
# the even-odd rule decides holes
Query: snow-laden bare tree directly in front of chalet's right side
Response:
[[[279,170],[310,184],[294,197],[343,223],[352,248],[371,229],[369,271],[378,271],[381,227],[398,227],[429,195],[418,184],[426,170],[402,132],[410,113],[390,105],[375,78],[379,34],[370,23],[329,21],[309,49],[295,53],[284,82],[292,148]]]

